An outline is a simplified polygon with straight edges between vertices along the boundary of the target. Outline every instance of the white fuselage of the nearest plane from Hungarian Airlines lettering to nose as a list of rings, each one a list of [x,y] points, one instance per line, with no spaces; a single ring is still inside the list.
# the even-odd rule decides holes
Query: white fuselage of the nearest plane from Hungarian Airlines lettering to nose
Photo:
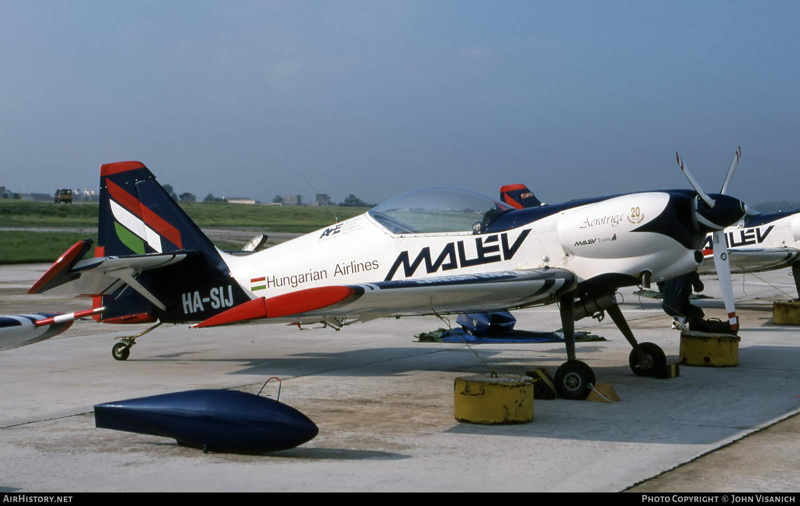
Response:
[[[508,210],[484,220],[479,233],[467,227],[410,232],[370,211],[252,255],[224,259],[254,298],[542,267],[566,269],[579,285],[602,281],[604,290],[614,291],[636,284],[642,271],[655,282],[698,267],[695,251],[702,237],[676,230],[686,227],[679,207],[689,201],[681,193],[656,191]],[[476,215],[476,224],[483,218]]]

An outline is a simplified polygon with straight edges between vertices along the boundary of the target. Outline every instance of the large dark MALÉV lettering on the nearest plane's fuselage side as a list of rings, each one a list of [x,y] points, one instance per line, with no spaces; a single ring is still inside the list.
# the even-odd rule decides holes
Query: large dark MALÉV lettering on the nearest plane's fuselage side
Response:
[[[422,250],[419,251],[414,262],[411,262],[408,251],[402,251],[400,255],[398,255],[398,258],[394,260],[394,264],[392,264],[392,267],[389,269],[389,274],[386,275],[384,281],[390,281],[394,278],[400,266],[402,266],[403,275],[405,275],[406,278],[410,278],[422,263],[425,263],[426,273],[432,274],[439,269],[442,271],[451,271],[453,269],[458,269],[458,267],[473,267],[486,263],[510,260],[514,257],[519,247],[522,246],[528,234],[530,234],[530,228],[523,230],[511,245],[509,245],[508,242],[508,234],[505,232],[499,236],[497,234],[489,235],[486,239],[476,237],[475,249],[477,251],[477,256],[474,259],[466,258],[464,241],[447,243],[436,256],[435,261],[430,255],[429,246],[423,247]],[[456,255],[456,250],[458,250],[458,255]]]

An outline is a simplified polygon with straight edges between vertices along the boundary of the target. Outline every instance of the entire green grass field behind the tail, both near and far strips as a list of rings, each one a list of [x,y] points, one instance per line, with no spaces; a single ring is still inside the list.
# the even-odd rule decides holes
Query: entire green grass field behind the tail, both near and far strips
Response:
[[[200,227],[258,227],[266,231],[304,233],[360,215],[362,207],[279,207],[228,203],[182,204]],[[55,204],[0,200],[0,225],[9,227],[97,227],[98,204]],[[0,263],[54,262],[85,235],[74,232],[0,231]],[[230,243],[217,247],[238,249]],[[94,255],[89,251],[86,257]]]

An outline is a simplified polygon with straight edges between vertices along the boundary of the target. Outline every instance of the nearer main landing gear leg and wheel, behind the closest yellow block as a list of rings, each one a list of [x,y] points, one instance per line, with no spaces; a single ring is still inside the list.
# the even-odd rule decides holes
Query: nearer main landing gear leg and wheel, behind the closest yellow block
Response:
[[[566,362],[555,373],[558,396],[565,399],[586,399],[590,384],[594,384],[594,371],[586,363],[575,359],[575,298],[573,294],[562,295],[561,325],[564,331]]]

